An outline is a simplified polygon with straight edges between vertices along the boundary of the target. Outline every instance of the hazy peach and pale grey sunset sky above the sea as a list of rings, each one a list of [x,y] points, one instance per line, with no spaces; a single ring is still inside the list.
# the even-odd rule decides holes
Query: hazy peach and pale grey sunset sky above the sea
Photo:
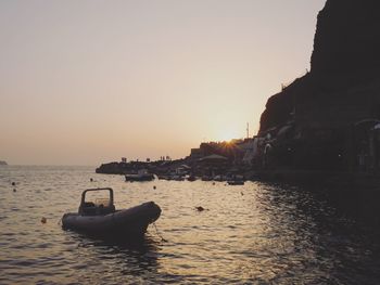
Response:
[[[257,132],[326,0],[0,0],[0,160],[180,158]]]

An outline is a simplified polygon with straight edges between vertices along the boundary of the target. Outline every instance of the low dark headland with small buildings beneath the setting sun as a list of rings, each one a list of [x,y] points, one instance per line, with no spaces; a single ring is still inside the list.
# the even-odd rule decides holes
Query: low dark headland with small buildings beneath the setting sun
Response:
[[[97,173],[132,174],[145,169],[165,180],[202,179],[228,180],[235,177],[252,179],[254,139],[232,140],[230,142],[201,143],[191,148],[190,155],[181,159],[162,156],[159,160],[145,161],[122,158],[122,161],[103,164]]]

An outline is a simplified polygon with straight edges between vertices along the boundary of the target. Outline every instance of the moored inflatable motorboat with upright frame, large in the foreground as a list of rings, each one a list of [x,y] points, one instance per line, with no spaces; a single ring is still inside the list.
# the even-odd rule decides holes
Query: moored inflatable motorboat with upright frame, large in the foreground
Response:
[[[107,199],[87,202],[88,192],[107,191]],[[160,218],[161,208],[154,202],[143,203],[132,208],[116,210],[111,187],[88,189],[81,193],[78,212],[64,213],[62,228],[96,236],[114,238],[142,237],[150,223]]]

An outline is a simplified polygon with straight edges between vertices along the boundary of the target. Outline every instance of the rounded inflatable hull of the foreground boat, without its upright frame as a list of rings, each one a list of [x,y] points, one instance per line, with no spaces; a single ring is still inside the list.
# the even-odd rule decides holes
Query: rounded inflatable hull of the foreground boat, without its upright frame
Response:
[[[160,215],[161,208],[149,202],[103,216],[68,212],[62,217],[62,228],[97,236],[140,237]]]

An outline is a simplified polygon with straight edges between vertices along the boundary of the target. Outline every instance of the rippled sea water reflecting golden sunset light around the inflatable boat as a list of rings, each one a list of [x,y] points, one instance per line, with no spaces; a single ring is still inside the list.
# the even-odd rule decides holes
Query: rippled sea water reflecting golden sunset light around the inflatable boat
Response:
[[[157,203],[156,229],[124,245],[63,231],[62,215],[76,211],[81,191],[97,186],[114,189],[117,208]],[[0,167],[0,284],[380,282],[372,226],[297,187],[126,183],[93,168],[8,166]]]

